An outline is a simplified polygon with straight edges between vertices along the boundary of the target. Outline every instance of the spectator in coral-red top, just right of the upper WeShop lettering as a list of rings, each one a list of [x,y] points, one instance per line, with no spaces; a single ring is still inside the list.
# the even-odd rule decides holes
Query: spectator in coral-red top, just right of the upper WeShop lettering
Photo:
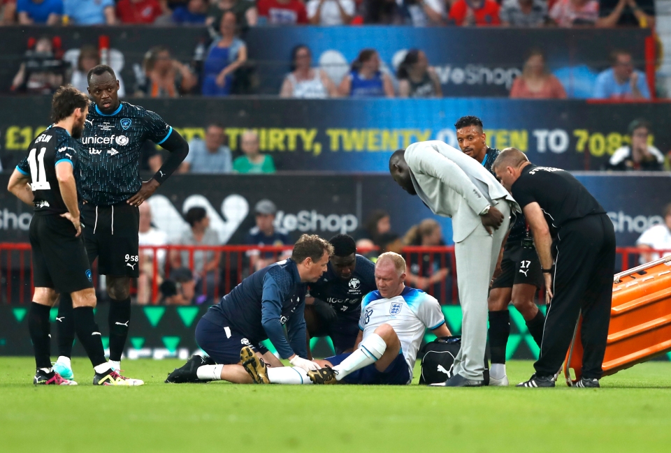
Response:
[[[565,99],[566,91],[559,79],[545,67],[542,50],[534,49],[524,63],[522,75],[516,77],[510,89],[511,98]]]

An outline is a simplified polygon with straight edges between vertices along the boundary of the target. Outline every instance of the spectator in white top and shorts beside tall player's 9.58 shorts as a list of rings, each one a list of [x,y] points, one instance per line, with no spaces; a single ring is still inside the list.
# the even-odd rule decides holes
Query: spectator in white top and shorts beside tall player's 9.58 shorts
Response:
[[[168,244],[168,235],[152,226],[152,208],[149,203],[140,205],[140,246],[165,246]],[[156,253],[158,273],[156,278],[159,285],[164,275],[166,265],[166,250],[161,249]],[[138,304],[149,304],[152,302],[152,279],[154,278],[154,251],[140,250],[140,276],[138,277]]]

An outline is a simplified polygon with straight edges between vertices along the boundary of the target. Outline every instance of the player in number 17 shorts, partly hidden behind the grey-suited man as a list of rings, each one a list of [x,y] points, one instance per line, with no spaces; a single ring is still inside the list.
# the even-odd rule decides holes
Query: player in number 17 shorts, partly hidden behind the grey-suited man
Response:
[[[482,131],[482,121],[478,117],[461,117],[456,124],[456,138],[464,154],[482,163],[496,177],[491,166],[496,160],[498,149],[486,144]],[[508,304],[521,313],[529,333],[540,347],[543,338],[543,313],[534,303],[536,290],[543,284],[540,261],[533,249],[533,238],[526,226],[523,214],[518,214],[505,240],[500,265],[494,273],[489,291],[489,352],[491,370],[489,385],[508,385],[505,374],[505,349],[510,336],[510,312]]]

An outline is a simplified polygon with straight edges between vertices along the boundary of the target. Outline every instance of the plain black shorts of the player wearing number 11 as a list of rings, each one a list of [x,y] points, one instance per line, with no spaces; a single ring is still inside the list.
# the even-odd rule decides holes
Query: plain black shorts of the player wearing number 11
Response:
[[[37,288],[76,292],[93,288],[91,265],[82,237],[57,214],[36,214],[30,222],[33,281]]]

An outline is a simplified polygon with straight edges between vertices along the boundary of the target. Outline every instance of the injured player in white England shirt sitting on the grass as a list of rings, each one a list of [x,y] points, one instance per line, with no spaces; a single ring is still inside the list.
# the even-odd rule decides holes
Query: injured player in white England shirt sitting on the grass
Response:
[[[315,360],[322,369],[268,366],[245,346],[240,359],[257,384],[377,384],[406,385],[425,329],[449,336],[438,301],[424,291],[405,286],[405,260],[387,252],[375,265],[377,291],[361,302],[359,336],[354,352]]]

